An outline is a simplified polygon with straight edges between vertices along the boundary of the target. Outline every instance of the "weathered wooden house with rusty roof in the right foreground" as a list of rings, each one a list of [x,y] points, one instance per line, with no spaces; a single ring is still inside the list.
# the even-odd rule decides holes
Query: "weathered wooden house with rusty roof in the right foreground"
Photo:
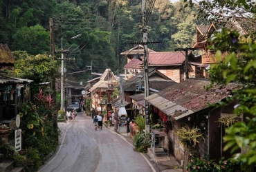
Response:
[[[152,106],[152,113],[160,116],[166,124],[165,132],[170,138],[170,152],[180,163],[184,160],[185,149],[174,133],[185,125],[201,129],[205,141],[202,140],[196,146],[196,151],[201,157],[209,155],[209,158],[214,160],[221,157],[230,158],[230,154],[222,149],[224,129],[218,120],[221,116],[232,114],[234,105],[212,109],[208,107],[208,103],[225,100],[232,94],[232,90],[239,89],[239,85],[230,83],[206,91],[203,86],[209,84],[209,80],[189,78],[145,98]],[[188,165],[188,162],[183,163]]]

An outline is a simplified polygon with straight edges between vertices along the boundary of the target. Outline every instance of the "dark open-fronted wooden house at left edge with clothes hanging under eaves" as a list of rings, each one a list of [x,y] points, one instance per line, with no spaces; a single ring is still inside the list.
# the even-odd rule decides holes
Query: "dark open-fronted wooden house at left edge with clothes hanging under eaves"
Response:
[[[13,67],[15,58],[8,45],[0,44],[0,123],[6,124],[10,129],[15,128],[15,120],[20,102],[30,100],[29,83],[33,80],[5,76],[1,70]]]

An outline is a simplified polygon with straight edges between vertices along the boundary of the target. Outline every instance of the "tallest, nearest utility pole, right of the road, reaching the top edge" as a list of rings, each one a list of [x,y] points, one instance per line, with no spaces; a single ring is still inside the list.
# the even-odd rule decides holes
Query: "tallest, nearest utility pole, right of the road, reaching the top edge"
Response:
[[[148,50],[147,50],[147,23],[146,23],[146,0],[142,0],[142,12],[143,12],[143,47],[144,47],[144,86],[145,86],[145,98],[149,96],[149,71],[148,71]],[[149,133],[149,103],[145,100],[145,130]]]

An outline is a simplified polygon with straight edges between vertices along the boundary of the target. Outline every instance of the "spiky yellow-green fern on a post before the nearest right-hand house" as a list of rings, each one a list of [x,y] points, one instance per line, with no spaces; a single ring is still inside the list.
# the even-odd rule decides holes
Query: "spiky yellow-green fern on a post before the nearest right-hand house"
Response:
[[[181,140],[181,142],[187,147],[188,149],[192,149],[196,147],[196,142],[199,143],[200,140],[204,140],[203,133],[200,132],[201,130],[197,127],[194,128],[185,126],[176,131],[176,136]]]

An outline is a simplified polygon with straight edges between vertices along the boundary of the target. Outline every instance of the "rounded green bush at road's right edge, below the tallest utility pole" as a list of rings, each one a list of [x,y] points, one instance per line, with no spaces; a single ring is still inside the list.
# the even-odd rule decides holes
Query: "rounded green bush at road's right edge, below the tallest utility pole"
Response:
[[[139,132],[134,136],[134,147],[138,152],[147,152],[150,142],[150,133]]]

